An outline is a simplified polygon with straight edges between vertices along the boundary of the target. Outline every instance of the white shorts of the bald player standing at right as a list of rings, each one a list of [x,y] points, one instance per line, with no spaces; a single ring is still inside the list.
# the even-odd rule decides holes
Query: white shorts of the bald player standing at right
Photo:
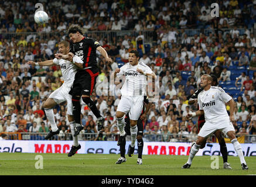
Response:
[[[223,120],[220,122],[205,122],[201,130],[199,131],[198,136],[209,137],[216,130],[221,130],[225,135],[228,131],[235,131],[233,124],[230,120]]]

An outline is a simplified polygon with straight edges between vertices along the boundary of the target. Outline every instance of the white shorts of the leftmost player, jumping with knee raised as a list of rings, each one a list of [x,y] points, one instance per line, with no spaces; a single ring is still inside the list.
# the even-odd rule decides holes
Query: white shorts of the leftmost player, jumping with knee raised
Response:
[[[57,104],[67,101],[67,114],[73,115],[72,96],[69,94],[69,91],[70,87],[62,85],[56,91],[52,92],[49,98],[54,99]]]

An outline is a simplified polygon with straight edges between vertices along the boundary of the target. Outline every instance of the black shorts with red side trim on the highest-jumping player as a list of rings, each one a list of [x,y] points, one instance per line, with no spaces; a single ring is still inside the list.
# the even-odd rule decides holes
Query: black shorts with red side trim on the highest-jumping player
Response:
[[[69,94],[72,96],[90,96],[93,93],[97,77],[98,70],[96,68],[78,71],[74,76],[74,83]]]

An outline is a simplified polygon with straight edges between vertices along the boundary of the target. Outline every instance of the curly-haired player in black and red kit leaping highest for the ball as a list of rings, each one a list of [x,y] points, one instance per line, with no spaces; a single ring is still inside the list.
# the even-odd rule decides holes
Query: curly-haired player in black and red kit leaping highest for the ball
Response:
[[[78,25],[71,25],[68,29],[70,37],[70,52],[67,55],[55,54],[56,58],[63,58],[64,60],[70,60],[71,57],[77,55],[83,60],[83,70],[77,70],[75,75],[73,86],[70,90],[73,103],[73,115],[76,120],[76,132],[74,136],[77,136],[84,127],[81,125],[81,105],[80,98],[84,103],[88,105],[93,114],[97,117],[98,131],[103,128],[104,118],[100,115],[100,111],[97,109],[95,103],[90,99],[90,95],[93,92],[98,77],[98,65],[96,50],[100,51],[101,55],[107,62],[112,62],[108,57],[107,52],[100,46],[98,41],[92,38],[84,37],[83,31]]]

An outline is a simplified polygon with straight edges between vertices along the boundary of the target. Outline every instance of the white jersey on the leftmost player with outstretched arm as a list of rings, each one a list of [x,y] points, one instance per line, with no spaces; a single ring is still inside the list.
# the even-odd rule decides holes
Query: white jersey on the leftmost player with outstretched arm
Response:
[[[78,56],[74,56],[73,61],[83,64],[83,61]],[[64,59],[54,58],[53,63],[60,65],[60,70],[62,71],[62,77],[64,79],[63,86],[71,87],[73,85],[74,75],[76,75],[78,67],[70,61]]]

